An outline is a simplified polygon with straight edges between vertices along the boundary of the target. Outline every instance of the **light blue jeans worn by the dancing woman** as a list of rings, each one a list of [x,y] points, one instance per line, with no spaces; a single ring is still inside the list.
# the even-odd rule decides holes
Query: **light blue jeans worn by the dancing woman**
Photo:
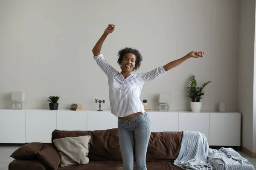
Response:
[[[118,133],[124,170],[134,169],[134,140],[137,170],[147,170],[146,153],[151,134],[151,123],[147,113],[128,120],[118,119]]]

